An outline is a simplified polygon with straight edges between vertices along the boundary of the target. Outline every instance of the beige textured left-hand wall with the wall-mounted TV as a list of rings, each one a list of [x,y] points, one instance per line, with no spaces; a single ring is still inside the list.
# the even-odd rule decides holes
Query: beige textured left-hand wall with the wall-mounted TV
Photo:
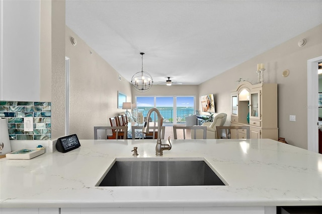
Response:
[[[131,84],[118,80],[119,73],[68,27],[65,33],[66,56],[70,59],[69,124],[70,134],[79,139],[94,139],[94,126],[110,126],[109,118],[124,112],[118,109],[118,91],[130,102]],[[73,46],[70,38],[77,41]]]

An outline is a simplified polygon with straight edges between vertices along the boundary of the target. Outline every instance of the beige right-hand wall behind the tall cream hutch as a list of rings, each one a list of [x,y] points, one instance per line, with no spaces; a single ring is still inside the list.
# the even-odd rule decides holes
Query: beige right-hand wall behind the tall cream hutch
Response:
[[[298,47],[297,42],[304,38],[306,45]],[[307,60],[318,56],[322,56],[322,25],[200,84],[199,96],[211,92],[211,88],[218,100],[216,111],[230,116],[230,91],[237,87],[236,80],[256,83],[257,64],[264,63],[265,82],[278,84],[279,137],[307,149]],[[288,77],[282,76],[285,69],[290,70]],[[296,116],[296,122],[289,121],[290,115]]]

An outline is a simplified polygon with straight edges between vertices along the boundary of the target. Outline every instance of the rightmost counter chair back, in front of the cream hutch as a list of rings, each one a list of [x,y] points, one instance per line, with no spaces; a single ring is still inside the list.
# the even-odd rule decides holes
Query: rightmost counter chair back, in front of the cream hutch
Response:
[[[249,139],[250,127],[249,126],[217,126],[218,139]],[[224,130],[225,136],[222,135]]]

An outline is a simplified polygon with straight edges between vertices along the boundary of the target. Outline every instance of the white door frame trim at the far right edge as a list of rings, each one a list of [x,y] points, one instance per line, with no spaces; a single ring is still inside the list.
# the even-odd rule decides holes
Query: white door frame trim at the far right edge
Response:
[[[307,150],[318,153],[318,61],[322,56],[307,60]]]

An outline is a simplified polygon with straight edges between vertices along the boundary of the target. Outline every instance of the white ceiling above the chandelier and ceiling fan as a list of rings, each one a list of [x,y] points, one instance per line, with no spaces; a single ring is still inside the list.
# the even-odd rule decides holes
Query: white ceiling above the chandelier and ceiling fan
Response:
[[[128,81],[144,52],[154,84],[200,84],[321,24],[321,11],[321,0],[66,0],[66,25]]]

